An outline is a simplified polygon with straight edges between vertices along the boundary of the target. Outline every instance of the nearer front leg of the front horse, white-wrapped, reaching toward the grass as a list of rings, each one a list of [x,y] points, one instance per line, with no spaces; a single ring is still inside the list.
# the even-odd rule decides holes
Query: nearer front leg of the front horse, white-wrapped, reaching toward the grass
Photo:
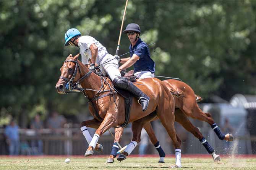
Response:
[[[107,113],[99,128],[94,133],[84,156],[91,156],[94,154],[93,150],[96,149],[100,136],[113,126],[117,126],[117,114]]]

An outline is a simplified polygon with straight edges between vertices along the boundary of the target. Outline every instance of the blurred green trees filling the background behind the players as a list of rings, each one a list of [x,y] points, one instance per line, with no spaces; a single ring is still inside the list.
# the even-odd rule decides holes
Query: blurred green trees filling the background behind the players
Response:
[[[86,113],[83,95],[55,90],[65,57],[79,52],[64,48],[64,34],[76,27],[114,54],[124,5],[125,1],[0,1],[1,114],[29,115],[40,109]],[[256,94],[256,1],[130,0],[124,27],[130,22],[141,26],[144,41],[156,42],[151,50],[156,75],[181,78],[204,98]],[[122,35],[119,54],[128,46]]]

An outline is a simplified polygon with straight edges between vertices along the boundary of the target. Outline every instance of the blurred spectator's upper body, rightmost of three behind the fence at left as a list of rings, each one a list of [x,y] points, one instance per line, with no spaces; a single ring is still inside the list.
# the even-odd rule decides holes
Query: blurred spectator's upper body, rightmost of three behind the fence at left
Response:
[[[60,133],[59,128],[62,128],[66,123],[64,116],[59,115],[57,111],[52,113],[52,116],[47,120],[47,127],[53,130],[53,133]]]

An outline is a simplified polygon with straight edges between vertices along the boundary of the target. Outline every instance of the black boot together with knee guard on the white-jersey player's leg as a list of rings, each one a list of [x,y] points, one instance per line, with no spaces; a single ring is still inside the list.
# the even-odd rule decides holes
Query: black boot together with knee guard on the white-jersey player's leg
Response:
[[[127,78],[116,77],[113,79],[113,84],[120,89],[130,91],[138,99],[139,104],[142,106],[142,110],[145,111],[147,109],[149,104],[149,97],[133,83],[131,83]]]

